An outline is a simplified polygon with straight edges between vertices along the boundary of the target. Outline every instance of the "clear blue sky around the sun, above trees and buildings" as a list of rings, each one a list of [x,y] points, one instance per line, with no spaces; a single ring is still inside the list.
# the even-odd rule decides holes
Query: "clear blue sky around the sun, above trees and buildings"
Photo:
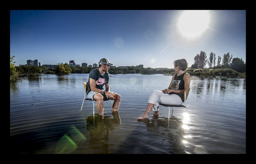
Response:
[[[173,68],[205,51],[246,61],[246,11],[209,10],[207,28],[188,38],[178,29],[184,10],[10,10],[10,56],[16,65],[94,64]],[[205,24],[199,21],[197,24]],[[187,25],[186,27],[195,25]],[[208,65],[207,65],[208,66]]]

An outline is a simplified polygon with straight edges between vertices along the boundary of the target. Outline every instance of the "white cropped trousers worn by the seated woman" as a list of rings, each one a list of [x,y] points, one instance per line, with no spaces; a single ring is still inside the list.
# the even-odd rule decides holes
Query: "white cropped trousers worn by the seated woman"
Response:
[[[153,107],[153,111],[158,111],[159,103],[160,104],[171,104],[171,105],[181,105],[182,100],[177,94],[164,94],[164,92],[160,90],[153,90],[149,99],[148,103],[155,104]]]

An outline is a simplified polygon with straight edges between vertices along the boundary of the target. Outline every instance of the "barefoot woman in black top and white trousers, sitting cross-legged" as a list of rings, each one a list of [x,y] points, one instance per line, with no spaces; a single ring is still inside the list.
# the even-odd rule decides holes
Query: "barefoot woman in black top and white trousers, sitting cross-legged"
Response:
[[[154,115],[159,115],[159,103],[181,105],[184,102],[184,91],[189,88],[190,75],[185,72],[188,68],[186,59],[174,61],[174,69],[177,74],[172,76],[172,81],[167,89],[162,91],[153,90],[146,108],[145,113],[139,117],[139,120],[149,118],[149,113],[153,108]]]

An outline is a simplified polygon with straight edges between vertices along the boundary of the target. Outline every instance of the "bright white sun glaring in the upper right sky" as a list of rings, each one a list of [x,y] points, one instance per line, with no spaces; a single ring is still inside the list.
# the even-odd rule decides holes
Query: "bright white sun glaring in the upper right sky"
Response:
[[[200,36],[210,23],[208,10],[185,10],[178,20],[179,32],[187,37],[193,38]]]

